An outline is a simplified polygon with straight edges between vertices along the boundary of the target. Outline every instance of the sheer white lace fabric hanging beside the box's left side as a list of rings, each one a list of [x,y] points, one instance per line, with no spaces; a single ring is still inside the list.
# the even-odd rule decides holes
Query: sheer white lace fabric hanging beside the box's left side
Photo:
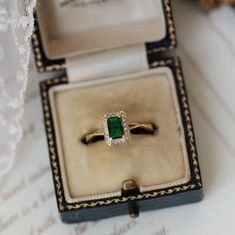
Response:
[[[0,0],[0,176],[11,168],[22,137],[35,4]]]

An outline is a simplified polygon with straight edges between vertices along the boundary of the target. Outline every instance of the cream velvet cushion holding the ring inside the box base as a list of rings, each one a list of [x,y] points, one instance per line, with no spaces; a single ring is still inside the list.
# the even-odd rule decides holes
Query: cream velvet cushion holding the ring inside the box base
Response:
[[[168,68],[73,83],[50,90],[67,201],[121,194],[134,179],[142,192],[190,179],[184,131],[173,74]],[[104,114],[123,110],[130,122],[154,122],[158,135],[132,135],[125,145],[85,145]]]

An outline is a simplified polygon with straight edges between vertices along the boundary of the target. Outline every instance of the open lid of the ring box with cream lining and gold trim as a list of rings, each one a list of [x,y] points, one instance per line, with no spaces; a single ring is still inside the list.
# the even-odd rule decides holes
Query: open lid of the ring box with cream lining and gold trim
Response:
[[[156,54],[176,46],[170,0],[39,0],[36,17],[39,72],[64,70],[68,58],[113,48],[143,43]]]

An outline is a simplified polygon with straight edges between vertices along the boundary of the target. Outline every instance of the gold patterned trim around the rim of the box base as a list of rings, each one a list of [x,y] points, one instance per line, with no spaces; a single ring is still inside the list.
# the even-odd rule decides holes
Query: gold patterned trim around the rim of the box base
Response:
[[[50,104],[49,104],[49,97],[48,97],[47,91],[48,91],[48,86],[61,84],[61,82],[68,82],[68,79],[66,77],[55,78],[55,79],[51,79],[51,80],[43,82],[41,85],[41,92],[42,92],[42,104],[43,104],[43,110],[44,110],[48,146],[49,146],[49,152],[50,152],[50,158],[51,158],[51,166],[52,166],[52,172],[53,172],[53,177],[54,177],[54,182],[55,182],[58,207],[59,207],[60,212],[63,212],[65,210],[89,208],[89,207],[95,207],[95,206],[110,205],[113,203],[121,203],[121,202],[134,201],[134,200],[140,200],[140,199],[155,198],[157,196],[171,195],[175,192],[183,192],[187,190],[193,190],[197,187],[200,187],[200,188],[202,187],[201,176],[200,176],[200,171],[199,171],[199,163],[197,160],[195,139],[194,139],[194,134],[193,134],[193,127],[192,127],[191,116],[190,116],[190,111],[189,111],[189,104],[188,104],[188,99],[186,96],[186,91],[184,89],[183,75],[180,69],[179,60],[167,59],[167,60],[162,60],[162,61],[156,61],[152,63],[150,67],[155,68],[158,66],[169,66],[169,65],[175,65],[175,68],[176,68],[176,79],[177,79],[177,82],[179,83],[180,98],[183,103],[183,111],[184,111],[183,115],[186,120],[187,138],[189,140],[190,150],[192,152],[192,165],[193,165],[194,174],[196,176],[195,178],[196,183],[177,186],[174,188],[161,190],[161,191],[153,191],[153,192],[148,192],[144,194],[138,194],[136,196],[102,199],[102,200],[97,200],[97,201],[80,202],[80,203],[66,205],[67,203],[63,199],[63,186],[61,183],[62,179],[60,176],[59,164],[56,160],[57,158],[56,157],[56,142],[55,142],[54,134],[53,134],[52,116],[50,112]]]

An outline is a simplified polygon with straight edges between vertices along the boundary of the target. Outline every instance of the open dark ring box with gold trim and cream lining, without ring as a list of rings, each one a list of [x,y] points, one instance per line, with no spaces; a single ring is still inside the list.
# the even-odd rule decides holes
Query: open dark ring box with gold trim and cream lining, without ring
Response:
[[[32,43],[58,209],[75,223],[200,201],[202,181],[169,0],[39,0]],[[50,21],[48,22],[48,15]],[[160,59],[161,58],[161,59]],[[125,111],[156,135],[85,145]]]

